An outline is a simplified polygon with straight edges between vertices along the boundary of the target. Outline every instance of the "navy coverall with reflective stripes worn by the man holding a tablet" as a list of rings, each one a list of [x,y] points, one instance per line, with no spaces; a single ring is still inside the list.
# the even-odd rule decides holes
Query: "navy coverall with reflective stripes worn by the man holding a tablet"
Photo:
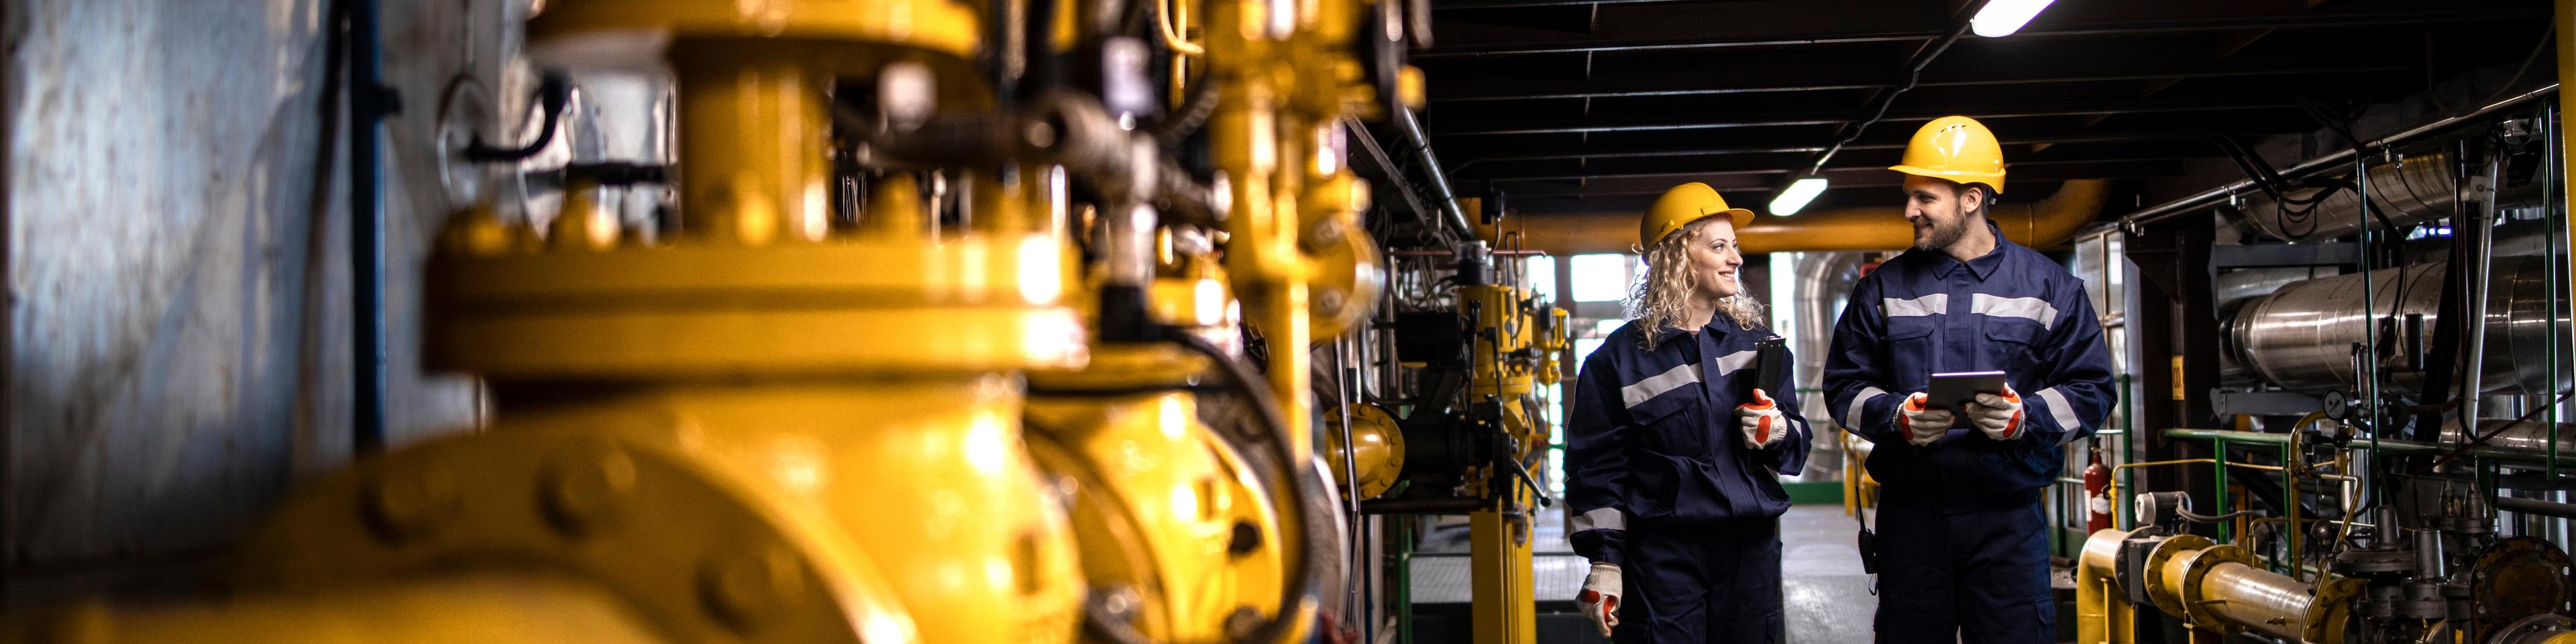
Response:
[[[1834,422],[1878,443],[1878,641],[2056,641],[2040,487],[2117,392],[2084,283],[1986,232],[1984,258],[1909,250],[1860,278],[1824,361]],[[1958,417],[1940,440],[1906,443],[1899,404],[1950,371],[2004,371],[2022,435],[1994,440]]]

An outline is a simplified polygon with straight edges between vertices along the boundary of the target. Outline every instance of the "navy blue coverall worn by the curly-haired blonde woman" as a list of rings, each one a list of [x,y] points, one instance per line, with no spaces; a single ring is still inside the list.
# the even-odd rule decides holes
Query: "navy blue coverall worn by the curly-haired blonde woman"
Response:
[[[1744,448],[1734,415],[1772,332],[1716,317],[1698,335],[1662,330],[1654,353],[1638,332],[1631,319],[1584,358],[1566,420],[1569,541],[1620,567],[1613,639],[1780,641],[1777,474],[1806,466],[1806,415],[1785,368],[1762,384],[1788,420],[1777,446]]]

